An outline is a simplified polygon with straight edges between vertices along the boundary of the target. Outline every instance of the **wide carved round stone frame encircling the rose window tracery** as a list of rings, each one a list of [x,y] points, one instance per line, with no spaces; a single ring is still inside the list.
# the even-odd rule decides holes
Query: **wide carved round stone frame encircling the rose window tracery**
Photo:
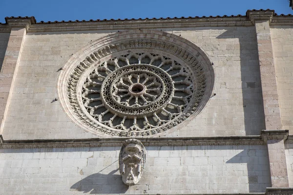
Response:
[[[95,67],[99,68],[107,60],[114,59],[115,61],[115,58],[121,55],[127,56],[127,53],[131,55],[152,53],[164,56],[166,59],[175,60],[176,63],[178,62],[182,67],[188,69],[195,89],[193,90],[193,98],[184,112],[178,116],[174,115],[171,121],[163,125],[160,124],[161,126],[153,125],[151,127],[151,125],[146,125],[146,127],[150,128],[142,128],[143,131],[137,131],[138,128],[135,126],[130,130],[127,129],[127,131],[125,127],[119,128],[122,125],[112,128],[113,125],[111,126],[110,122],[100,119],[100,121],[105,121],[105,123],[101,123],[97,120],[99,119],[98,116],[96,116],[97,118],[93,117],[93,109],[95,108],[85,108],[83,101],[88,101],[88,99],[82,99],[82,96],[79,95],[82,92],[86,78],[95,70]],[[149,65],[149,67],[151,66]],[[63,69],[64,71],[58,81],[58,92],[65,113],[85,131],[100,137],[153,137],[158,133],[162,135],[165,131],[177,126],[188,117],[196,116],[209,100],[214,83],[211,62],[202,49],[179,36],[151,30],[120,32],[93,41],[74,54]],[[182,70],[184,71],[184,69]],[[105,81],[107,81],[107,78],[105,78]],[[117,86],[121,84],[118,83]],[[103,86],[104,82],[102,88]],[[103,101],[103,97],[101,98]],[[104,104],[105,102],[103,101]],[[109,108],[109,106],[106,107]],[[156,117],[156,113],[154,113],[154,116]],[[108,124],[110,124],[110,127]]]

